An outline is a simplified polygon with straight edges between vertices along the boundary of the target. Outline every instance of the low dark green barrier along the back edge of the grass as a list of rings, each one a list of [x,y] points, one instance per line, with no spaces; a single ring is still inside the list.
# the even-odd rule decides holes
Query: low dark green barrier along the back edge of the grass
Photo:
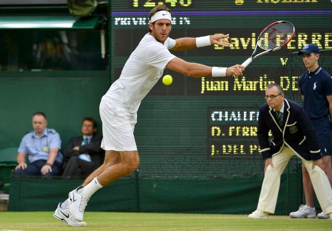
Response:
[[[287,184],[298,180],[297,174],[281,176],[275,214],[287,215],[302,203],[303,195]],[[133,174],[98,190],[87,211],[249,214],[256,209],[262,181],[262,177],[137,179]],[[81,182],[12,177],[8,210],[54,211]]]

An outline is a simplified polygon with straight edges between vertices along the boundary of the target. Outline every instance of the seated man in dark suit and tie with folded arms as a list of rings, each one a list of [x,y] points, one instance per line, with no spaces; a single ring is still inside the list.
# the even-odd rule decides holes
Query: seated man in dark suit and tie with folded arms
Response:
[[[103,163],[105,152],[100,148],[102,137],[94,135],[96,131],[96,121],[90,117],[83,118],[83,136],[71,138],[63,152],[69,158],[63,176],[88,176]]]

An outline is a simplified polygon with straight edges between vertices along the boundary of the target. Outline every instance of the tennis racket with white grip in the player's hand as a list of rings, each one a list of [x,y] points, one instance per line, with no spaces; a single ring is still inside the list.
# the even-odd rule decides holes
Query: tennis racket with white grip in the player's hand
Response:
[[[243,62],[243,66],[248,66],[254,59],[263,54],[276,51],[284,47],[292,40],[295,34],[295,27],[288,21],[277,21],[267,27],[258,35],[256,48],[253,54]],[[258,48],[263,50],[257,53]]]

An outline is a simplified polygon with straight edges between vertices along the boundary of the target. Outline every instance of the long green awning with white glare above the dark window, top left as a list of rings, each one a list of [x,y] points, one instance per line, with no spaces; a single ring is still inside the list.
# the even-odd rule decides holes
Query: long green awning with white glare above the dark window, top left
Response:
[[[100,17],[0,16],[0,29],[95,29]]]

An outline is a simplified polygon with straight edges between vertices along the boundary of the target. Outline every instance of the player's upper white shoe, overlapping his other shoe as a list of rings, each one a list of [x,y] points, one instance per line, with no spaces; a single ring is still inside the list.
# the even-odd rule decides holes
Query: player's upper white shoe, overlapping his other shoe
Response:
[[[83,213],[88,204],[89,197],[82,195],[74,189],[69,193],[69,212],[77,221],[83,221]]]

